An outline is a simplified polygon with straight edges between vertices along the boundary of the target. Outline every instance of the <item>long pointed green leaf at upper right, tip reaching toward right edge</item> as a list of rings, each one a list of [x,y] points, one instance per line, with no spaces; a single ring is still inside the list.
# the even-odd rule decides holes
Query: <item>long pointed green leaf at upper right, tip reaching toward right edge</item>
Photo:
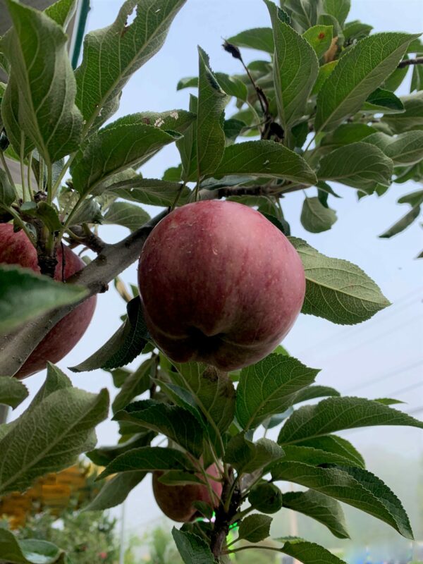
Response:
[[[369,94],[398,66],[417,35],[377,33],[345,53],[317,96],[316,131],[328,131],[360,110]]]

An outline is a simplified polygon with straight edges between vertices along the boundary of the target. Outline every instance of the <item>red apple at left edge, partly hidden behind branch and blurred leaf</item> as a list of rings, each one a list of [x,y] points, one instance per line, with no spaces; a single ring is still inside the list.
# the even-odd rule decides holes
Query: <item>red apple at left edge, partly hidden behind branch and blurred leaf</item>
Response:
[[[82,269],[85,264],[78,255],[75,255],[69,247],[63,245],[65,264],[63,268],[63,279],[69,278],[75,272]],[[62,280],[63,266],[62,247],[57,248],[58,264],[54,273],[56,280]],[[0,224],[0,264],[19,264],[25,268],[39,272],[37,262],[37,251],[32,246],[23,231],[13,233],[11,223]],[[32,354],[27,358],[25,364],[15,374],[17,378],[25,378],[35,374],[46,367],[47,361],[58,362],[66,356],[78,343],[85,329],[90,324],[96,305],[97,298],[92,296],[81,305],[75,307],[71,313],[63,317],[47,336],[37,345]]]

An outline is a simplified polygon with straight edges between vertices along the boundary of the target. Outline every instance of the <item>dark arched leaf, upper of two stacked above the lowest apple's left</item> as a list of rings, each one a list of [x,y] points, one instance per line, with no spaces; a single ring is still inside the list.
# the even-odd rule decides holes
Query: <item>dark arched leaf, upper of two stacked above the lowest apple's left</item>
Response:
[[[117,421],[132,421],[163,434],[197,459],[203,451],[203,432],[188,410],[154,400],[141,400],[116,413]]]

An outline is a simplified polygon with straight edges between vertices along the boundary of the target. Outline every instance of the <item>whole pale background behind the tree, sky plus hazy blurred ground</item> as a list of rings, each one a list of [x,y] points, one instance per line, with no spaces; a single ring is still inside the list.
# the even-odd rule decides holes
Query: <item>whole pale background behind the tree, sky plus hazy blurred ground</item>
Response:
[[[120,6],[121,0],[90,0],[86,30],[112,23]],[[348,20],[357,19],[371,24],[374,32],[422,32],[422,0],[402,0],[400,3],[393,0],[352,0]],[[239,73],[238,61],[221,48],[223,38],[250,27],[268,25],[268,13],[261,0],[188,0],[176,17],[159,54],[143,66],[125,87],[120,109],[114,118],[137,111],[187,109],[190,91],[176,92],[176,84],[184,76],[197,74],[197,44],[209,54],[214,71]],[[243,55],[247,62],[257,59],[258,53],[244,50]],[[260,53],[259,58],[264,59],[264,54]],[[407,94],[409,84],[410,73],[397,94]],[[166,147],[141,171],[146,178],[160,178],[166,168],[176,164],[176,147]],[[346,395],[397,398],[404,402],[399,409],[421,418],[423,261],[415,257],[423,247],[423,232],[419,223],[415,222],[391,240],[378,238],[404,213],[396,204],[398,197],[411,192],[415,185],[411,182],[394,184],[383,197],[372,195],[360,202],[353,188],[334,184],[333,189],[342,196],[342,199],[332,202],[338,213],[338,222],[331,231],[316,235],[306,232],[300,224],[302,195],[293,193],[286,197],[283,211],[293,235],[304,238],[326,255],[347,259],[360,266],[381,286],[392,305],[358,326],[336,326],[324,319],[301,315],[283,345],[303,363],[321,369],[318,384],[334,386]],[[147,211],[157,213],[157,209],[153,208]],[[104,226],[101,234],[106,241],[114,242],[128,232],[125,228]],[[135,283],[136,265],[125,271],[122,278],[126,283]],[[124,310],[125,304],[113,288],[99,295],[97,311],[85,337],[59,363],[75,386],[92,392],[106,386],[114,391],[109,373],[73,374],[67,367],[78,364],[97,350],[121,324],[119,317]],[[134,364],[139,363],[140,359]],[[25,381],[30,388],[30,397],[42,385],[44,377],[45,374],[40,373]],[[27,402],[18,407],[11,417],[17,417],[26,405]],[[271,434],[268,436],[274,438]],[[387,525],[348,506],[345,506],[345,514],[351,541],[339,541],[323,526],[307,517],[291,515],[288,510],[281,510],[275,515],[273,536],[298,534],[310,541],[318,541],[350,564],[423,560],[421,430],[376,427],[344,431],[343,436],[362,452],[368,470],[381,477],[403,501],[417,540],[411,543],[402,539]],[[110,421],[101,424],[98,437],[99,445],[116,443],[117,424]],[[127,564],[144,561],[178,563],[169,537],[172,524],[161,516],[149,477],[133,490],[123,509],[111,510],[107,519],[113,521],[115,518],[118,520],[114,523],[115,536],[121,537],[119,527],[123,525],[123,539],[128,549]],[[255,551],[249,558],[245,557],[243,562],[289,562],[281,560],[281,556],[277,557],[279,560],[276,557],[271,560],[269,556],[260,556]],[[77,561],[82,563],[82,560]]]

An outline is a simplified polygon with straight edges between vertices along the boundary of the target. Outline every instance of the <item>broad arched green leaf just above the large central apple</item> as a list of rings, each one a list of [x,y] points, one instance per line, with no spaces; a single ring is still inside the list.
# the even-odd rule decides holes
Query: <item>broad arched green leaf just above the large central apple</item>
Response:
[[[316,176],[299,154],[274,141],[246,141],[226,147],[214,177],[229,174],[286,178],[312,185]]]

